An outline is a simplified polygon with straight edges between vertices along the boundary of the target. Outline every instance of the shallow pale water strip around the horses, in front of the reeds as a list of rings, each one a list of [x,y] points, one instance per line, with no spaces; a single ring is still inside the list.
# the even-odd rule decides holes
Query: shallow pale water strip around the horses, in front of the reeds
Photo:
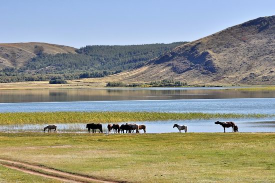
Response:
[[[147,133],[169,133],[178,132],[177,128],[172,128],[173,124],[187,125],[187,132],[223,132],[220,125],[214,124],[215,120],[178,120],[178,121],[142,121],[136,124],[145,124]],[[234,121],[239,132],[275,132],[275,118],[265,119],[226,119],[222,121]],[[129,122],[130,123],[130,122]],[[122,124],[122,123],[118,123]],[[47,124],[26,124],[26,125],[0,125],[0,132],[32,131],[42,132]],[[56,124],[58,132],[86,132],[86,124]],[[107,124],[102,124],[103,131],[106,132]],[[231,132],[232,128],[226,128],[226,132]],[[143,133],[143,130],[140,131]],[[113,133],[113,132],[112,132]]]

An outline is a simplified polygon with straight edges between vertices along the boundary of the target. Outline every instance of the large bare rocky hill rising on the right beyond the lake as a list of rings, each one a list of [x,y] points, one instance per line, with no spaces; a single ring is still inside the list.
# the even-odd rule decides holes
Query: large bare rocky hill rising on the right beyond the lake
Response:
[[[178,46],[128,72],[97,82],[174,79],[192,84],[275,84],[275,16]]]

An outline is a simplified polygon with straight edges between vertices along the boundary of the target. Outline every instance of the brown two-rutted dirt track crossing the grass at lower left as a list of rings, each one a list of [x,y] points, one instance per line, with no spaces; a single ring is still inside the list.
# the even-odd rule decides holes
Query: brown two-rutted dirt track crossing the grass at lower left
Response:
[[[100,182],[100,183],[118,183],[116,181],[101,180],[92,178],[89,176],[78,175],[55,170],[47,167],[41,167],[38,165],[28,164],[25,162],[19,162],[14,160],[7,160],[0,158],[0,164],[5,167],[16,169],[25,173],[39,175],[46,178],[53,178],[64,182],[83,183],[83,182]]]

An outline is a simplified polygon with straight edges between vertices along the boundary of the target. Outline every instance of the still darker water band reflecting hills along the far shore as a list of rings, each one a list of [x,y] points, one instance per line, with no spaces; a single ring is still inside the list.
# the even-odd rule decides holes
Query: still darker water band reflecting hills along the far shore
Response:
[[[275,90],[243,91],[223,87],[0,90],[0,103],[226,98],[275,98]]]

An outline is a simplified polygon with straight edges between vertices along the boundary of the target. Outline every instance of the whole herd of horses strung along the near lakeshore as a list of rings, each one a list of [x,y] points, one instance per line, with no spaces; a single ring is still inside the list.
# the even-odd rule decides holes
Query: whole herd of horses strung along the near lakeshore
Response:
[[[232,127],[232,132],[238,132],[238,126],[232,122],[220,122],[220,121],[216,121],[214,122],[215,124],[219,124],[223,127],[223,132],[225,133],[225,128],[230,128]],[[184,132],[187,132],[187,126],[185,125],[178,125],[178,124],[174,124],[173,128],[176,127],[179,131],[179,133],[181,132],[181,130],[184,130]],[[103,133],[102,130],[102,124],[100,123],[88,123],[86,124],[86,128],[88,129],[88,133],[90,133],[90,129],[92,130],[92,133],[96,133],[96,129],[99,130],[99,133]],[[137,125],[137,124],[121,124],[119,126],[119,124],[108,124],[107,125],[108,128],[108,133],[111,133],[111,130],[113,130],[113,133],[139,133],[139,130],[143,130],[143,133],[146,133],[146,126],[145,125]],[[56,125],[48,125],[46,127],[44,127],[43,132],[45,132],[45,130],[48,129],[48,132],[51,132],[51,130],[53,129],[53,132],[56,132]]]

